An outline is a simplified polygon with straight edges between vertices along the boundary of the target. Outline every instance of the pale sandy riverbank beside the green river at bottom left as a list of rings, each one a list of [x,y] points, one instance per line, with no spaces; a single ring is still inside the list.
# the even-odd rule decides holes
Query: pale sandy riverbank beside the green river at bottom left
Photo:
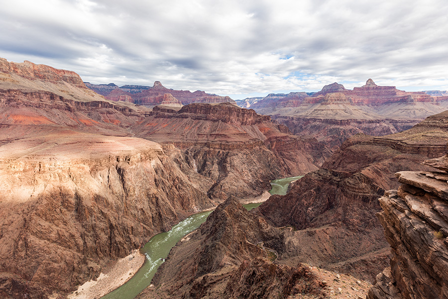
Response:
[[[68,299],[98,299],[127,282],[143,266],[144,254],[135,249],[130,255],[119,259],[96,281],[89,281],[70,294]]]

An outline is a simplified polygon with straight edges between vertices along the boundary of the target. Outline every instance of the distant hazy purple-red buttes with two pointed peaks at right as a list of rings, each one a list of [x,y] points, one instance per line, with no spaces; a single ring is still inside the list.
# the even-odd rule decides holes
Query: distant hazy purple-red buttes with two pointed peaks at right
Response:
[[[335,82],[311,95],[268,95],[249,108],[270,115],[296,135],[324,142],[334,152],[346,138],[358,133],[383,136],[410,129],[445,111],[445,102],[424,92],[378,86],[369,79],[353,90]]]

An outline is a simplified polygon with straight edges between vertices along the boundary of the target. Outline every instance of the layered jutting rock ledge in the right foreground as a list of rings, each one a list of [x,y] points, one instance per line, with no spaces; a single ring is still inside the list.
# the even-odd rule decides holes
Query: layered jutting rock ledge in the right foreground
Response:
[[[424,164],[438,171],[397,172],[379,199],[392,258],[367,299],[448,298],[448,155]]]

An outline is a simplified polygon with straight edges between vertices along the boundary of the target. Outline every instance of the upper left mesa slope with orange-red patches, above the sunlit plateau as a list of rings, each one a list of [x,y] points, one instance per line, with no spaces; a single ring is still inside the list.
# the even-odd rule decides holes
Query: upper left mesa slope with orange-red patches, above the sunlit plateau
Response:
[[[89,90],[78,74],[31,62],[0,59],[0,140],[60,130],[129,135],[149,110],[111,102]]]

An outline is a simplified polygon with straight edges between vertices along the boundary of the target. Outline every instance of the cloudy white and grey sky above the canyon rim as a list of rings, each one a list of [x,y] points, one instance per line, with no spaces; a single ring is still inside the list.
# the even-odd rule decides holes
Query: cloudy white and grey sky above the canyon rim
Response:
[[[446,0],[0,0],[0,57],[233,99],[448,90]]]

